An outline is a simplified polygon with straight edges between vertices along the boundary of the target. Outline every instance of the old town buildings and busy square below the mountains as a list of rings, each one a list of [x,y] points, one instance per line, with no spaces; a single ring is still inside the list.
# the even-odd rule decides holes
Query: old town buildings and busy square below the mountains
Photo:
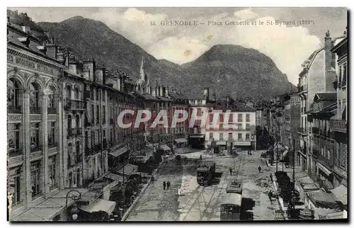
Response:
[[[347,218],[347,32],[271,101],[188,96],[144,55],[132,76],[38,33],[8,17],[9,221]],[[121,127],[125,110],[152,119]],[[154,126],[161,110],[190,116]]]

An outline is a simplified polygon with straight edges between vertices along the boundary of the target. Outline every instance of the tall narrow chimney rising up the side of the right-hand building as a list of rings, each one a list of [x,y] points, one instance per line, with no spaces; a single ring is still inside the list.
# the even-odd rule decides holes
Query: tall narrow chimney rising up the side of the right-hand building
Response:
[[[326,37],[324,38],[324,77],[325,77],[325,91],[334,91],[333,81],[336,79],[336,73],[333,69],[333,60],[335,59],[335,54],[331,52],[334,43],[332,42],[331,34],[329,30],[326,33]]]

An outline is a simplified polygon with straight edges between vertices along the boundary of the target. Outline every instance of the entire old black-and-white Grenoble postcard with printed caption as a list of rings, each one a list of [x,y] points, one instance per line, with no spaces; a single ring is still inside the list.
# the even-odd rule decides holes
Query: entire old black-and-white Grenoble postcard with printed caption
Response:
[[[347,17],[8,8],[8,220],[348,221]]]

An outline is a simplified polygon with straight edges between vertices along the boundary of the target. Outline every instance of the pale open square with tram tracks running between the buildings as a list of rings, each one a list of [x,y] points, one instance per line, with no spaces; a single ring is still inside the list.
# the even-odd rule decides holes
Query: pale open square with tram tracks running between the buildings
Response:
[[[195,158],[198,154],[202,153],[183,156]],[[275,199],[270,202],[265,193],[273,169],[266,166],[260,154],[242,152],[236,157],[207,156],[207,160],[216,162],[215,183],[207,187],[198,186],[193,162],[176,166],[169,161],[159,170],[154,185],[142,195],[127,221],[219,221],[220,202],[231,178],[242,178],[243,181],[241,220],[274,220],[279,205]],[[262,167],[261,173],[258,166]],[[230,167],[234,168],[232,176]],[[164,181],[171,182],[171,190],[163,190]],[[179,186],[182,195],[178,197]]]

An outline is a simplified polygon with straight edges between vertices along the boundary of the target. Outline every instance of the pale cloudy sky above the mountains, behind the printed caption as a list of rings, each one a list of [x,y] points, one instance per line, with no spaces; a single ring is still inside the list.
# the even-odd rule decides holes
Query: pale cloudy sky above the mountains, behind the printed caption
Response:
[[[176,64],[197,59],[212,45],[249,47],[268,55],[297,85],[301,64],[331,37],[343,35],[346,8],[10,8],[35,22],[60,22],[73,16],[102,21],[156,59]],[[312,21],[307,25],[267,25],[267,21]],[[156,25],[151,25],[155,21]],[[161,21],[198,21],[197,26],[161,25]],[[222,25],[208,25],[208,21]],[[226,21],[250,25],[225,25]],[[252,25],[252,22],[256,25]],[[263,21],[263,25],[259,24]]]

